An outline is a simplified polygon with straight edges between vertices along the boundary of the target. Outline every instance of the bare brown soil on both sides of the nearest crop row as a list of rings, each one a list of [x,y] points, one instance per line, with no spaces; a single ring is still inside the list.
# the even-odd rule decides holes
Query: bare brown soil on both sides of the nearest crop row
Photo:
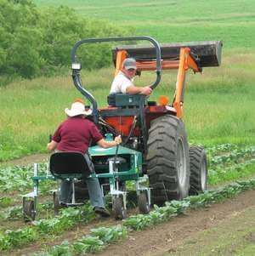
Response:
[[[59,244],[65,239],[71,242],[88,234],[93,227],[119,223],[113,219],[99,219],[68,231],[54,241],[46,240],[45,245]],[[4,255],[28,255],[42,248],[41,242]],[[189,210],[147,230],[133,231],[123,241],[96,255],[239,255],[239,250],[247,251],[240,255],[255,254],[255,191],[246,191],[209,208]]]

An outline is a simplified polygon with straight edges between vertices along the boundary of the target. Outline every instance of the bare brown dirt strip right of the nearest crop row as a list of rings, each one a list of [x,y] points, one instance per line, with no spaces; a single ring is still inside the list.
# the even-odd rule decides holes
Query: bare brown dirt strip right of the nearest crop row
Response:
[[[246,219],[246,211],[250,211]],[[242,214],[244,214],[242,216]],[[236,216],[242,216],[235,224]],[[245,225],[246,222],[248,224]],[[212,204],[210,208],[201,208],[198,210],[190,210],[182,216],[172,219],[171,221],[157,225],[153,229],[143,230],[131,233],[128,239],[117,244],[111,245],[104,252],[98,255],[111,256],[131,256],[131,255],[210,255],[208,252],[201,254],[201,249],[207,247],[208,241],[206,236],[200,237],[198,234],[205,230],[215,229],[215,236],[221,234],[218,229],[221,225],[229,228],[230,233],[238,232],[240,226],[243,229],[253,227],[252,231],[248,231],[247,242],[255,242],[255,191],[246,191],[236,198],[229,199],[222,203]],[[235,226],[232,225],[235,224]],[[193,250],[186,251],[185,248],[189,247],[190,243],[193,244]],[[199,243],[197,245],[196,243]],[[255,246],[255,245],[254,245]],[[217,248],[213,248],[212,255]],[[231,247],[224,248],[225,252],[217,255],[232,255]],[[255,253],[255,251],[254,251]],[[215,254],[214,254],[215,255]]]

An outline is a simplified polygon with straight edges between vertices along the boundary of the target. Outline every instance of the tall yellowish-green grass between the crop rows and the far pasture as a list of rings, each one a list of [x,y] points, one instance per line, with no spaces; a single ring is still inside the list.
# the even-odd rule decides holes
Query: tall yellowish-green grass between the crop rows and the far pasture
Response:
[[[190,141],[254,144],[255,53],[239,57],[230,51],[222,67],[188,74],[184,98],[184,122]],[[245,66],[245,68],[244,68]],[[113,68],[85,71],[82,82],[99,102],[106,105]],[[154,73],[142,73],[137,85],[148,85]],[[161,84],[151,94],[173,98],[176,72],[164,71]],[[64,109],[81,97],[71,76],[13,82],[0,88],[0,161],[46,151],[48,134],[65,119]]]

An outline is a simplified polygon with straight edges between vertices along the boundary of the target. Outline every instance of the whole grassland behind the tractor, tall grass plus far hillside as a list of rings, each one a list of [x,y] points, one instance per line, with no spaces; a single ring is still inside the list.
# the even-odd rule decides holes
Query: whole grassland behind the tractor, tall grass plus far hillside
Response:
[[[223,40],[222,65],[189,74],[184,122],[191,142],[254,145],[255,2],[254,1],[34,1],[39,6],[68,4],[78,14],[136,27],[136,35],[160,43]],[[153,15],[152,15],[153,14]],[[153,74],[143,73],[138,85]],[[113,67],[82,73],[82,81],[99,105],[106,105]],[[151,100],[172,100],[176,73],[164,72]],[[81,97],[70,71],[62,77],[16,81],[0,88],[0,161],[44,152],[48,134],[65,118],[64,109]]]

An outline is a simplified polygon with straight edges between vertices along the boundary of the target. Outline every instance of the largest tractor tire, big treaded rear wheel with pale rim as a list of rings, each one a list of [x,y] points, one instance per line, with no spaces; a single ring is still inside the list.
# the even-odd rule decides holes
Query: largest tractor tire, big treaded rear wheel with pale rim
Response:
[[[147,163],[153,203],[162,205],[189,195],[190,159],[184,122],[166,115],[150,123]]]

